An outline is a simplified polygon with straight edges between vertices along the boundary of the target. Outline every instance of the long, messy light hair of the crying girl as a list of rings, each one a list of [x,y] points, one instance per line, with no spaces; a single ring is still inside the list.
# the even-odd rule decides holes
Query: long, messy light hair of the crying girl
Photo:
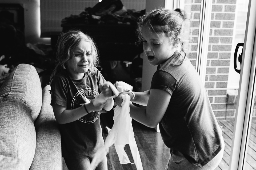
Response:
[[[91,43],[92,65],[88,69],[87,74],[94,74],[95,68],[99,63],[98,48],[89,35],[83,33],[80,30],[72,29],[68,32],[61,33],[58,37],[56,56],[57,65],[51,74],[50,85],[55,75],[67,67],[66,62],[74,56],[74,48],[78,46],[82,41]]]

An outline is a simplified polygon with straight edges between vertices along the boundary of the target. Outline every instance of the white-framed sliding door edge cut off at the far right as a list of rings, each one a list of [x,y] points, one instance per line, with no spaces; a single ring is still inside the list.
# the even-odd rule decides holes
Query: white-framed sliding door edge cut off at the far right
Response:
[[[255,140],[255,66],[256,66],[256,1],[250,0],[248,6],[245,43],[242,57],[239,101],[230,169],[256,169]],[[239,148],[240,146],[240,148]],[[238,149],[239,148],[239,149]],[[237,158],[239,155],[239,158]],[[236,163],[236,161],[238,163]]]

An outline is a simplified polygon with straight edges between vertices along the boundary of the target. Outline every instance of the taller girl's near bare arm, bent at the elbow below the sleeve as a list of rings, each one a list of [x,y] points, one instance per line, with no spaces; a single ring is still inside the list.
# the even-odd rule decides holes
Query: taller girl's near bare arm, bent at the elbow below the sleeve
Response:
[[[130,104],[130,116],[134,120],[154,128],[163,118],[170,99],[171,95],[168,92],[159,89],[151,89],[147,107],[140,108]]]

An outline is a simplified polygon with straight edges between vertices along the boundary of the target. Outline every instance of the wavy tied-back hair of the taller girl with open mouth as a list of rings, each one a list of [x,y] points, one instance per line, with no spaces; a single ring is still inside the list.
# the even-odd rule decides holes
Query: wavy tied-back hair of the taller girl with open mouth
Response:
[[[188,41],[184,38],[186,21],[187,15],[180,8],[175,10],[165,8],[151,10],[138,19],[137,34],[139,41],[137,43],[142,42],[142,27],[146,25],[150,31],[163,33],[166,37],[169,37],[169,43],[172,43],[174,46],[177,47],[180,45],[179,51],[175,52],[172,61],[178,60],[181,56],[180,52],[183,51],[185,56],[182,56],[182,60],[180,61],[182,64],[188,56],[188,50],[184,48],[185,43]],[[177,37],[181,37],[181,39],[177,39]]]

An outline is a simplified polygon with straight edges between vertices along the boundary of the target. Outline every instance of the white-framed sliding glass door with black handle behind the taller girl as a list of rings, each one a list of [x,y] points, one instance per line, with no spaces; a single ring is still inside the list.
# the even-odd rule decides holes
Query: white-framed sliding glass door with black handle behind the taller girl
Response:
[[[205,83],[225,141],[216,169],[256,169],[256,1],[166,2],[166,8],[180,7],[190,19],[190,61]]]

